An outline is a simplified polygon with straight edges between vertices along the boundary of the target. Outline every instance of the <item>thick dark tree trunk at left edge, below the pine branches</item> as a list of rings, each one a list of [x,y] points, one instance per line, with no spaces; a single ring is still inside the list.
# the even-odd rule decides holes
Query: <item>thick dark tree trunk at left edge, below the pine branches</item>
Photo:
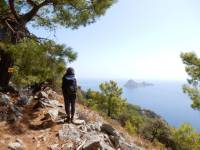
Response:
[[[8,87],[12,73],[8,72],[8,69],[12,67],[14,60],[12,56],[0,49],[0,87],[5,89]]]

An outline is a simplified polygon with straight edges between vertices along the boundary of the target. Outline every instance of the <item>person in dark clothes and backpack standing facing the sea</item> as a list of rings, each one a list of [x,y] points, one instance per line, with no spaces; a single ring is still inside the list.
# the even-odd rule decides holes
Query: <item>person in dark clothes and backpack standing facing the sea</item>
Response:
[[[77,92],[77,82],[74,74],[74,69],[69,67],[63,76],[62,91],[65,101],[65,111],[67,114],[67,122],[73,123],[75,113],[75,100]],[[71,106],[71,111],[70,111]],[[71,116],[70,116],[71,114]]]

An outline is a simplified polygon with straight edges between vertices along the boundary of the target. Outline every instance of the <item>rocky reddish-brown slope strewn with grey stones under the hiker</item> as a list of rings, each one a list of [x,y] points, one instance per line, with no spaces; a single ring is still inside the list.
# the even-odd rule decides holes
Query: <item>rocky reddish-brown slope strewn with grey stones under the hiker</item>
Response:
[[[66,123],[63,98],[49,87],[25,93],[0,93],[0,150],[143,149],[81,104]]]

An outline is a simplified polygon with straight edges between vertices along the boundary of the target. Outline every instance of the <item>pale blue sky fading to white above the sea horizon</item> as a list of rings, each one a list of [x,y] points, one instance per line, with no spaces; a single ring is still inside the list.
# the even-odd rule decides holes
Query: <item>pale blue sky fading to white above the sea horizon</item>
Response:
[[[78,78],[186,80],[181,52],[200,56],[199,0],[118,0],[96,23],[31,29],[78,53]]]

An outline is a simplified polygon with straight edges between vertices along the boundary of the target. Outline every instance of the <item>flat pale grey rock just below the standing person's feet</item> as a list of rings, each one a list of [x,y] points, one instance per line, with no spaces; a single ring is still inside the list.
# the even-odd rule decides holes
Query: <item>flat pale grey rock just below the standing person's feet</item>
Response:
[[[80,133],[78,129],[72,124],[64,124],[63,128],[58,131],[59,139],[62,141],[73,140],[80,141]]]

